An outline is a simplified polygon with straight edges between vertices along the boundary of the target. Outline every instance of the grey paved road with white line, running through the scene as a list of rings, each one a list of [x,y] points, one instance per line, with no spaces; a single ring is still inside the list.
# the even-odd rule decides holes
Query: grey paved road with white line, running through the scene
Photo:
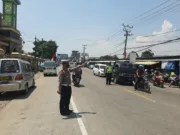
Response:
[[[59,112],[57,77],[41,77],[29,95],[16,96],[0,111],[1,135],[179,135],[180,90],[105,85],[103,77],[83,69],[73,86],[72,115]],[[0,101],[1,102],[1,101]]]

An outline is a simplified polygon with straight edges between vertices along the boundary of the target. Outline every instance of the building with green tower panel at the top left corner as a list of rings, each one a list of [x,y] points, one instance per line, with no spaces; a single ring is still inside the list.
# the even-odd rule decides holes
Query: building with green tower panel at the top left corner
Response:
[[[22,38],[17,30],[17,6],[20,0],[3,0],[3,13],[0,13],[0,48],[5,54],[22,52]]]

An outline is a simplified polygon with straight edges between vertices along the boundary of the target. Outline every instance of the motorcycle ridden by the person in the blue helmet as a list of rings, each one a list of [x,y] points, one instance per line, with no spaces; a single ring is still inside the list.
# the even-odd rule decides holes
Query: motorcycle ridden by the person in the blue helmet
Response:
[[[142,77],[142,80],[137,85],[137,89],[143,90],[147,93],[151,93],[150,85],[147,77]]]

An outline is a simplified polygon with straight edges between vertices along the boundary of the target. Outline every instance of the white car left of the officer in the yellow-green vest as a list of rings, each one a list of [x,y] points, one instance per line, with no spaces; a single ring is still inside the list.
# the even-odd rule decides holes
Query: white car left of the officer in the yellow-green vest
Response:
[[[98,76],[105,76],[107,65],[105,64],[96,64],[93,68],[93,74]]]

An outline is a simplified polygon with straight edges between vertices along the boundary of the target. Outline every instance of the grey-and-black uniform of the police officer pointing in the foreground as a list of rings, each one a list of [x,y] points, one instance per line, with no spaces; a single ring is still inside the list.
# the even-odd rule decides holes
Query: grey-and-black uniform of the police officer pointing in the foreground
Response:
[[[60,112],[61,114],[69,112],[71,99],[71,71],[74,69],[61,70],[59,75],[59,90],[61,90]]]

